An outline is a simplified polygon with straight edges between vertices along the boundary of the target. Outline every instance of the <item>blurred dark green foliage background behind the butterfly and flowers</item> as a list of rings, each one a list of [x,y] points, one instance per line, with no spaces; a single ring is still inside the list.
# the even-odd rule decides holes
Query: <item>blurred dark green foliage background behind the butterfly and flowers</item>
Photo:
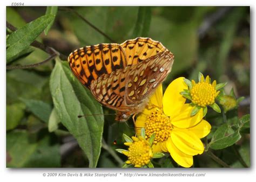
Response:
[[[7,7],[6,20],[19,28],[45,14],[46,7]],[[88,22],[78,16],[84,17]],[[140,15],[140,16],[138,16]],[[142,19],[140,19],[142,18]],[[143,22],[143,24],[141,23]],[[7,29],[6,34],[10,31]],[[250,113],[250,7],[214,6],[87,6],[58,7],[47,36],[37,40],[58,52],[69,55],[73,50],[99,43],[123,43],[127,39],[150,37],[160,41],[174,55],[172,72],[164,82],[166,87],[179,76],[197,79],[198,72],[210,75],[217,82],[228,82],[226,93],[234,88],[235,95],[245,96],[236,110],[238,116]],[[8,65],[28,65],[41,62],[48,54],[30,46],[22,56]],[[76,139],[61,123],[49,132],[49,117],[53,102],[49,80],[55,61],[33,69],[6,71],[6,161],[8,167],[87,167],[88,160]],[[31,110],[35,103],[41,110]],[[40,113],[40,114],[36,114]],[[43,113],[43,114],[42,114]],[[104,108],[104,113],[114,111]],[[210,113],[211,115],[211,113]],[[122,155],[110,151],[124,148],[122,134],[132,136],[125,123],[114,122],[114,116],[104,117],[103,149],[97,167],[119,167]],[[218,125],[212,113],[207,118]],[[118,127],[118,132],[117,132]],[[113,141],[117,139],[117,145]],[[242,158],[250,166],[250,134],[237,143]],[[215,155],[232,167],[241,167],[232,147],[216,151]],[[161,161],[162,160],[162,161]],[[170,158],[159,159],[155,167],[172,167]],[[175,165],[174,165],[175,166]],[[220,167],[207,155],[194,157],[194,167]]]

